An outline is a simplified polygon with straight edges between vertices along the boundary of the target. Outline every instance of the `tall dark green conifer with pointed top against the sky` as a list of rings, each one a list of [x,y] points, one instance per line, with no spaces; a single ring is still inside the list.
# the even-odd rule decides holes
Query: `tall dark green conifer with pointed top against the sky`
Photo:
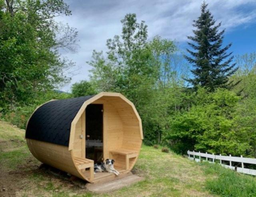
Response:
[[[213,92],[216,88],[232,88],[236,85],[228,82],[229,76],[236,72],[236,64],[232,63],[234,56],[227,50],[231,43],[222,48],[224,30],[219,31],[221,23],[214,25],[211,12],[207,9],[208,4],[203,2],[201,15],[198,20],[194,20],[194,36],[188,36],[192,42],[188,45],[194,51],[187,49],[190,56],[185,58],[190,62],[194,69],[191,70],[194,78],[186,79],[194,87],[200,85]]]

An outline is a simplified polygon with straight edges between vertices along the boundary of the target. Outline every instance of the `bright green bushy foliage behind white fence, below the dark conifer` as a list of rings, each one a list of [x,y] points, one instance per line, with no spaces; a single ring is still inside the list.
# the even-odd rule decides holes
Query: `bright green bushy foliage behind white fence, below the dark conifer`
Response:
[[[250,149],[248,133],[237,129],[236,107],[240,98],[225,89],[207,93],[199,88],[188,111],[171,120],[166,139],[176,151],[188,149],[223,155],[240,155]]]

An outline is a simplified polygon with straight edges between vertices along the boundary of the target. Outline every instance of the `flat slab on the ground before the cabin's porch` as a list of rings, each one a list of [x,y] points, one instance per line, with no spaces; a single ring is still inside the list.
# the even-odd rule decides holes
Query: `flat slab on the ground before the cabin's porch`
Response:
[[[125,186],[129,186],[132,183],[136,183],[141,180],[143,180],[142,177],[138,177],[136,175],[128,175],[126,177],[122,177],[120,179],[115,179],[104,183],[87,183],[85,187],[91,192],[107,193]]]

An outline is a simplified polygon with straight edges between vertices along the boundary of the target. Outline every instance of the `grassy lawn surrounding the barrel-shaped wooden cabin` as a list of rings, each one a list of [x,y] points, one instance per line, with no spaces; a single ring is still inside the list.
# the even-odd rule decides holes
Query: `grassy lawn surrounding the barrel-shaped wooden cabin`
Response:
[[[142,146],[140,157],[132,170],[134,174],[144,177],[143,181],[107,194],[90,193],[84,188],[83,181],[71,181],[66,173],[48,170],[41,165],[30,154],[24,132],[0,121],[0,196],[256,195],[254,177],[240,175],[218,165],[198,164],[173,152],[162,153],[161,148],[154,149],[145,145]]]

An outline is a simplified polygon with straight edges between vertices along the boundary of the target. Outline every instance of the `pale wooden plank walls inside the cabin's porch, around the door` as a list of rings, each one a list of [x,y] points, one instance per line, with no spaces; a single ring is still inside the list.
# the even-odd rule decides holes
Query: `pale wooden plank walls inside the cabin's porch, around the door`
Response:
[[[131,105],[119,97],[103,96],[92,104],[103,104],[103,144],[104,159],[110,158],[109,151],[114,149],[130,149],[140,151],[142,139],[138,118]],[[75,157],[86,157],[85,139],[81,139],[81,133],[86,136],[85,113],[78,119],[74,136],[73,154]],[[84,121],[84,122],[83,122]],[[116,165],[125,166],[125,158],[116,155]],[[137,158],[136,158],[137,159]],[[131,159],[130,166],[134,166],[136,159]]]

